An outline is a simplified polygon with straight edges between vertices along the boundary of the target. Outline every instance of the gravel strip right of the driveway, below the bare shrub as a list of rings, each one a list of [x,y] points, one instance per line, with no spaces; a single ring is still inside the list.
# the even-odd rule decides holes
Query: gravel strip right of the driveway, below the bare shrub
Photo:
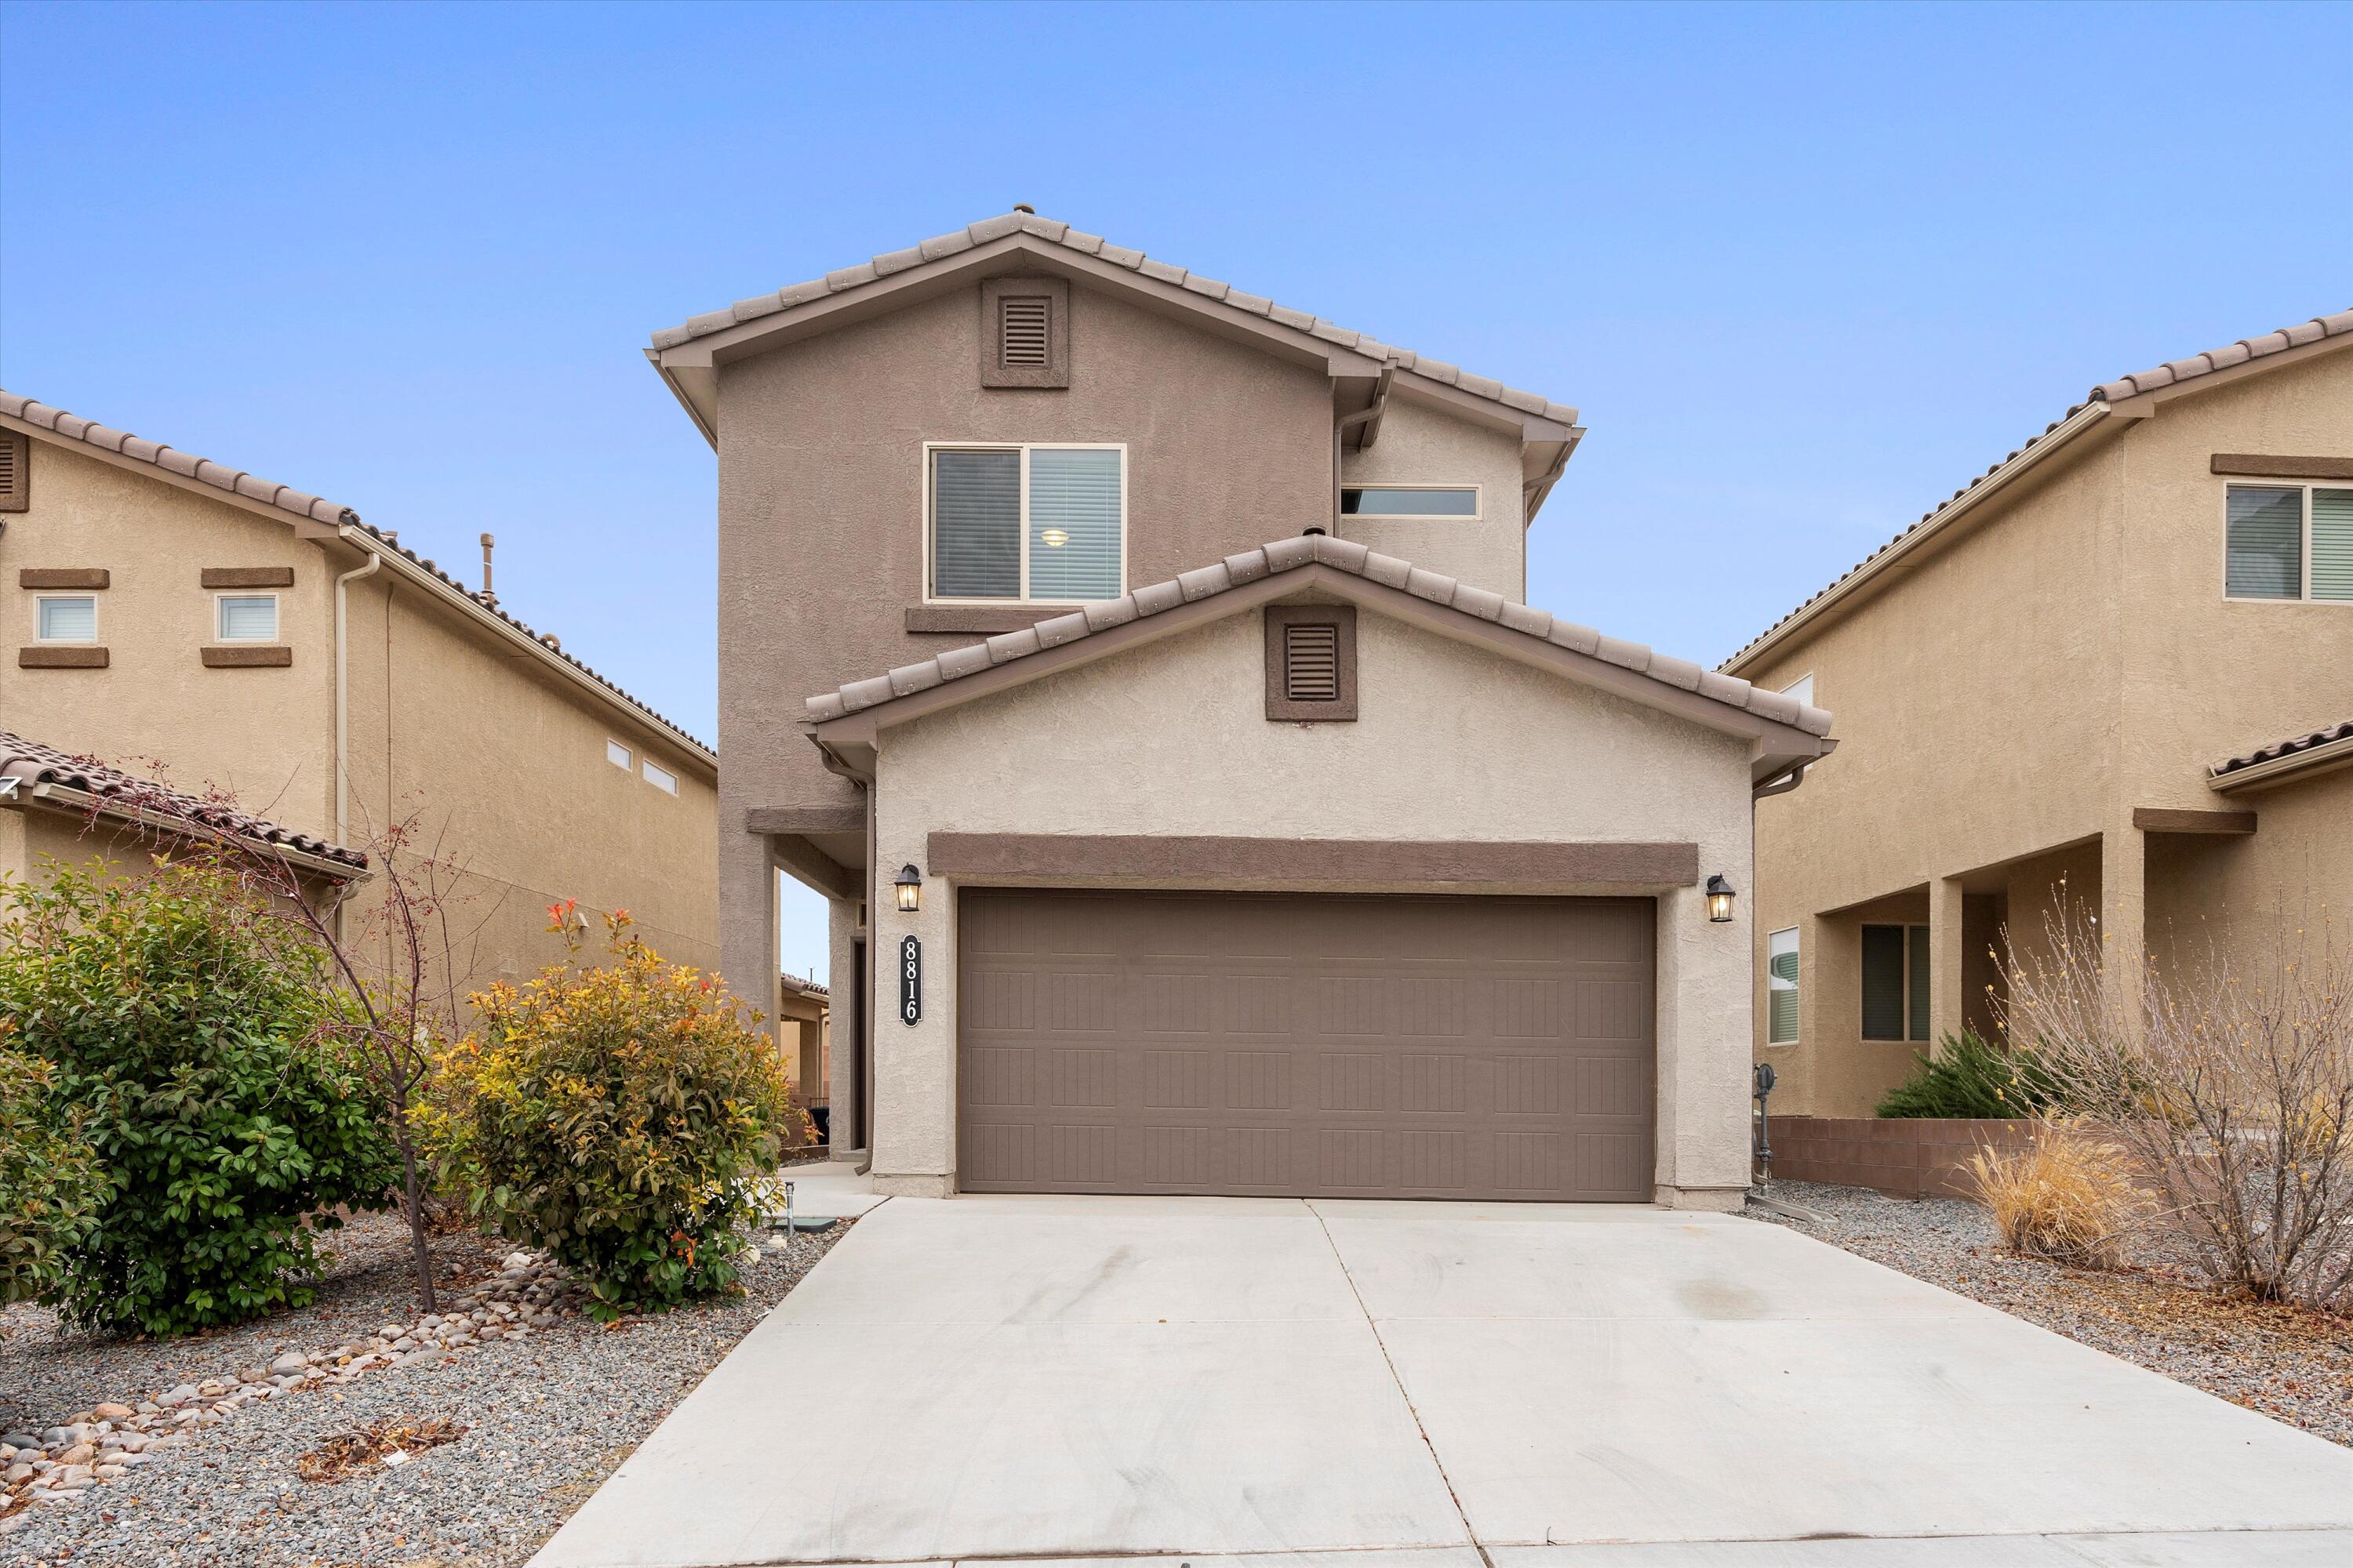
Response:
[[[1788,1180],[1774,1182],[1772,1197],[1824,1222],[1758,1204],[1748,1218],[1788,1225],[2353,1448],[2348,1319],[2217,1295],[2153,1244],[2120,1272],[2021,1258],[2002,1248],[1984,1208],[1960,1199],[1906,1201]]]

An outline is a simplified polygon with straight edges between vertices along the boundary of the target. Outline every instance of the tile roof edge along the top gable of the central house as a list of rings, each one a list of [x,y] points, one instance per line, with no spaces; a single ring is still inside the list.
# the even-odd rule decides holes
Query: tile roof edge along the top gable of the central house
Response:
[[[1417,376],[1428,376],[1431,381],[1438,381],[1442,386],[1471,393],[1473,397],[1501,402],[1522,414],[1539,414],[1562,425],[1577,423],[1577,409],[1562,402],[1553,402],[1537,393],[1522,393],[1518,388],[1508,388],[1501,381],[1492,381],[1487,376],[1473,376],[1471,371],[1457,364],[1417,355],[1409,348],[1393,348],[1388,343],[1381,343],[1379,339],[1365,336],[1362,331],[1348,331],[1346,327],[1334,327],[1332,322],[1318,315],[1308,315],[1306,310],[1289,310],[1261,294],[1245,294],[1233,284],[1217,282],[1214,277],[1202,277],[1200,273],[1188,273],[1181,266],[1169,266],[1167,261],[1153,261],[1144,252],[1132,252],[1125,244],[1111,244],[1101,235],[1080,233],[1068,223],[1054,219],[1040,219],[1033,212],[1007,212],[993,219],[981,219],[979,223],[969,223],[955,233],[936,235],[932,240],[925,240],[922,244],[911,244],[904,252],[885,252],[873,261],[840,268],[826,273],[824,277],[812,277],[809,282],[795,282],[784,289],[776,289],[774,294],[755,294],[751,299],[739,299],[734,306],[725,310],[711,310],[708,315],[689,317],[685,327],[668,327],[664,331],[656,331],[654,348],[656,350],[678,348],[680,343],[692,343],[694,339],[711,336],[713,331],[727,331],[729,327],[739,327],[762,315],[798,310],[800,306],[814,303],[819,299],[828,299],[833,294],[864,287],[868,282],[889,277],[892,273],[904,273],[911,266],[939,261],[944,256],[967,252],[974,244],[988,244],[991,240],[1002,240],[1005,235],[1014,233],[1038,235],[1040,240],[1049,240],[1085,256],[1122,266],[1129,273],[1139,273],[1144,277],[1155,277],[1179,289],[1188,289],[1207,301],[1226,306],[1228,310],[1257,315],[1275,324],[1313,334],[1318,339],[1325,339],[1327,343],[1353,348],[1367,360],[1384,360],[1388,364],[1395,364],[1398,369],[1414,371]]]

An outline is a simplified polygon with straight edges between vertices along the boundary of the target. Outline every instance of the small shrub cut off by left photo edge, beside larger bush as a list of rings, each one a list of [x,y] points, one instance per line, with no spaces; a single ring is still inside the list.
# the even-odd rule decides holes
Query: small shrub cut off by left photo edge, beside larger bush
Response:
[[[106,1197],[80,1119],[49,1110],[49,1063],[9,1051],[7,1032],[0,1020],[0,1307],[56,1288]]]

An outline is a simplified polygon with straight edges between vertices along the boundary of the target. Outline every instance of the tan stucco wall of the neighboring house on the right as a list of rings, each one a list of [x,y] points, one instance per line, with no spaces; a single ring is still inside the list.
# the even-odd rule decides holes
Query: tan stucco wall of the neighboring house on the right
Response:
[[[1885,588],[1732,665],[1777,689],[1812,672],[1838,715],[1838,752],[1758,806],[1760,997],[1762,936],[1805,933],[1800,1046],[1767,1053],[1758,1009],[1777,1110],[1868,1114],[1892,1081],[1873,1056],[1889,1046],[1845,1027],[1859,978],[1831,912],[1906,889],[2002,893],[2012,931],[2033,938],[2052,877],[2009,863],[2089,839],[2059,856],[2071,891],[2097,889],[2111,931],[2153,938],[2207,917],[2193,907],[2207,893],[2268,905],[2261,879],[2329,837],[2325,811],[2266,813],[2207,788],[2212,762],[2353,715],[2353,604],[2224,599],[2233,480],[2212,473],[2217,451],[2353,456],[2353,353],[2108,421]],[[2144,835],[2137,806],[2252,806],[2261,849]],[[2179,858],[2209,870],[2177,875]],[[1939,987],[1937,1032],[1962,1018],[1962,987]]]

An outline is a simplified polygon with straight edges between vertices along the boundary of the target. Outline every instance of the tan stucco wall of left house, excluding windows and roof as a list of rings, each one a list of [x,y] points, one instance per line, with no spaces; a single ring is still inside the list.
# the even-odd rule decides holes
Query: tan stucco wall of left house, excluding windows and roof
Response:
[[[334,576],[362,564],[165,480],[35,440],[33,508],[0,534],[0,726],[167,783],[219,785],[287,827],[334,837]],[[104,567],[106,670],[21,670],[26,567]],[[205,567],[289,567],[280,642],[289,668],[209,670]],[[459,969],[522,976],[560,957],[546,905],[626,907],[678,961],[715,966],[718,797],[706,764],[468,628],[393,569],[351,592],[351,837],[421,811],[442,858],[468,865],[452,924]],[[605,736],[680,780],[673,799],[605,762]],[[87,858],[78,856],[78,858]],[[362,893],[362,898],[367,898]],[[358,903],[355,914],[358,917]],[[769,964],[769,973],[774,966]],[[755,992],[760,994],[760,992]]]

